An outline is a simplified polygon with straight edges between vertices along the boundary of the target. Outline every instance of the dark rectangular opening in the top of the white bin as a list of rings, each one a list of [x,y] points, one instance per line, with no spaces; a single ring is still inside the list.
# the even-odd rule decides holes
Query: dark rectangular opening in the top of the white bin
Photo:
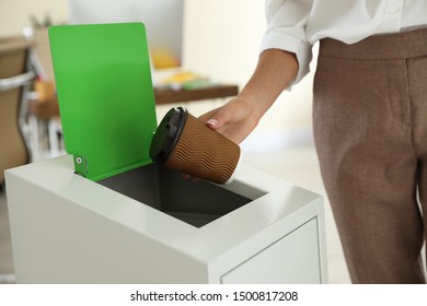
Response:
[[[159,165],[142,166],[97,181],[143,204],[201,227],[265,195],[251,198],[200,179],[194,183],[178,172]],[[231,190],[230,190],[231,189]]]

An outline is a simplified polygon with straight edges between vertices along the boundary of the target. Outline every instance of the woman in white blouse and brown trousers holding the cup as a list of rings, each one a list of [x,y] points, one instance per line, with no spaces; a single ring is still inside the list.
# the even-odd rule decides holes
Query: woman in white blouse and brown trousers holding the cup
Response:
[[[314,139],[351,281],[425,283],[427,1],[267,0],[266,15],[252,78],[200,119],[240,143],[320,42]]]

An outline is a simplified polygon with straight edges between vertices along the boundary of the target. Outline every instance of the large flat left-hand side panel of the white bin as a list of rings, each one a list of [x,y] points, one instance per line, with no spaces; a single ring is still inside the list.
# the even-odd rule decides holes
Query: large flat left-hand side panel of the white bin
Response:
[[[12,172],[7,181],[18,283],[207,282],[193,258]]]

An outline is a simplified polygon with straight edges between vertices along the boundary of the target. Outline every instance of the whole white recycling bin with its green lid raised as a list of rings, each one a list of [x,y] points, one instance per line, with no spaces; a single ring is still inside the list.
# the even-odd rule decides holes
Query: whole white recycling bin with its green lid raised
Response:
[[[142,24],[50,30],[67,153],[5,172],[18,283],[325,283],[323,199],[152,163]]]

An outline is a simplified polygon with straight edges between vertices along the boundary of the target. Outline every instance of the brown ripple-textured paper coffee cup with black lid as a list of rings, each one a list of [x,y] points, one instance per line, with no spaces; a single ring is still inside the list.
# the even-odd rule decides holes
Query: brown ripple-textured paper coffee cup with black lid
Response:
[[[154,163],[217,184],[232,180],[240,155],[238,144],[182,107],[164,116],[150,148]]]

